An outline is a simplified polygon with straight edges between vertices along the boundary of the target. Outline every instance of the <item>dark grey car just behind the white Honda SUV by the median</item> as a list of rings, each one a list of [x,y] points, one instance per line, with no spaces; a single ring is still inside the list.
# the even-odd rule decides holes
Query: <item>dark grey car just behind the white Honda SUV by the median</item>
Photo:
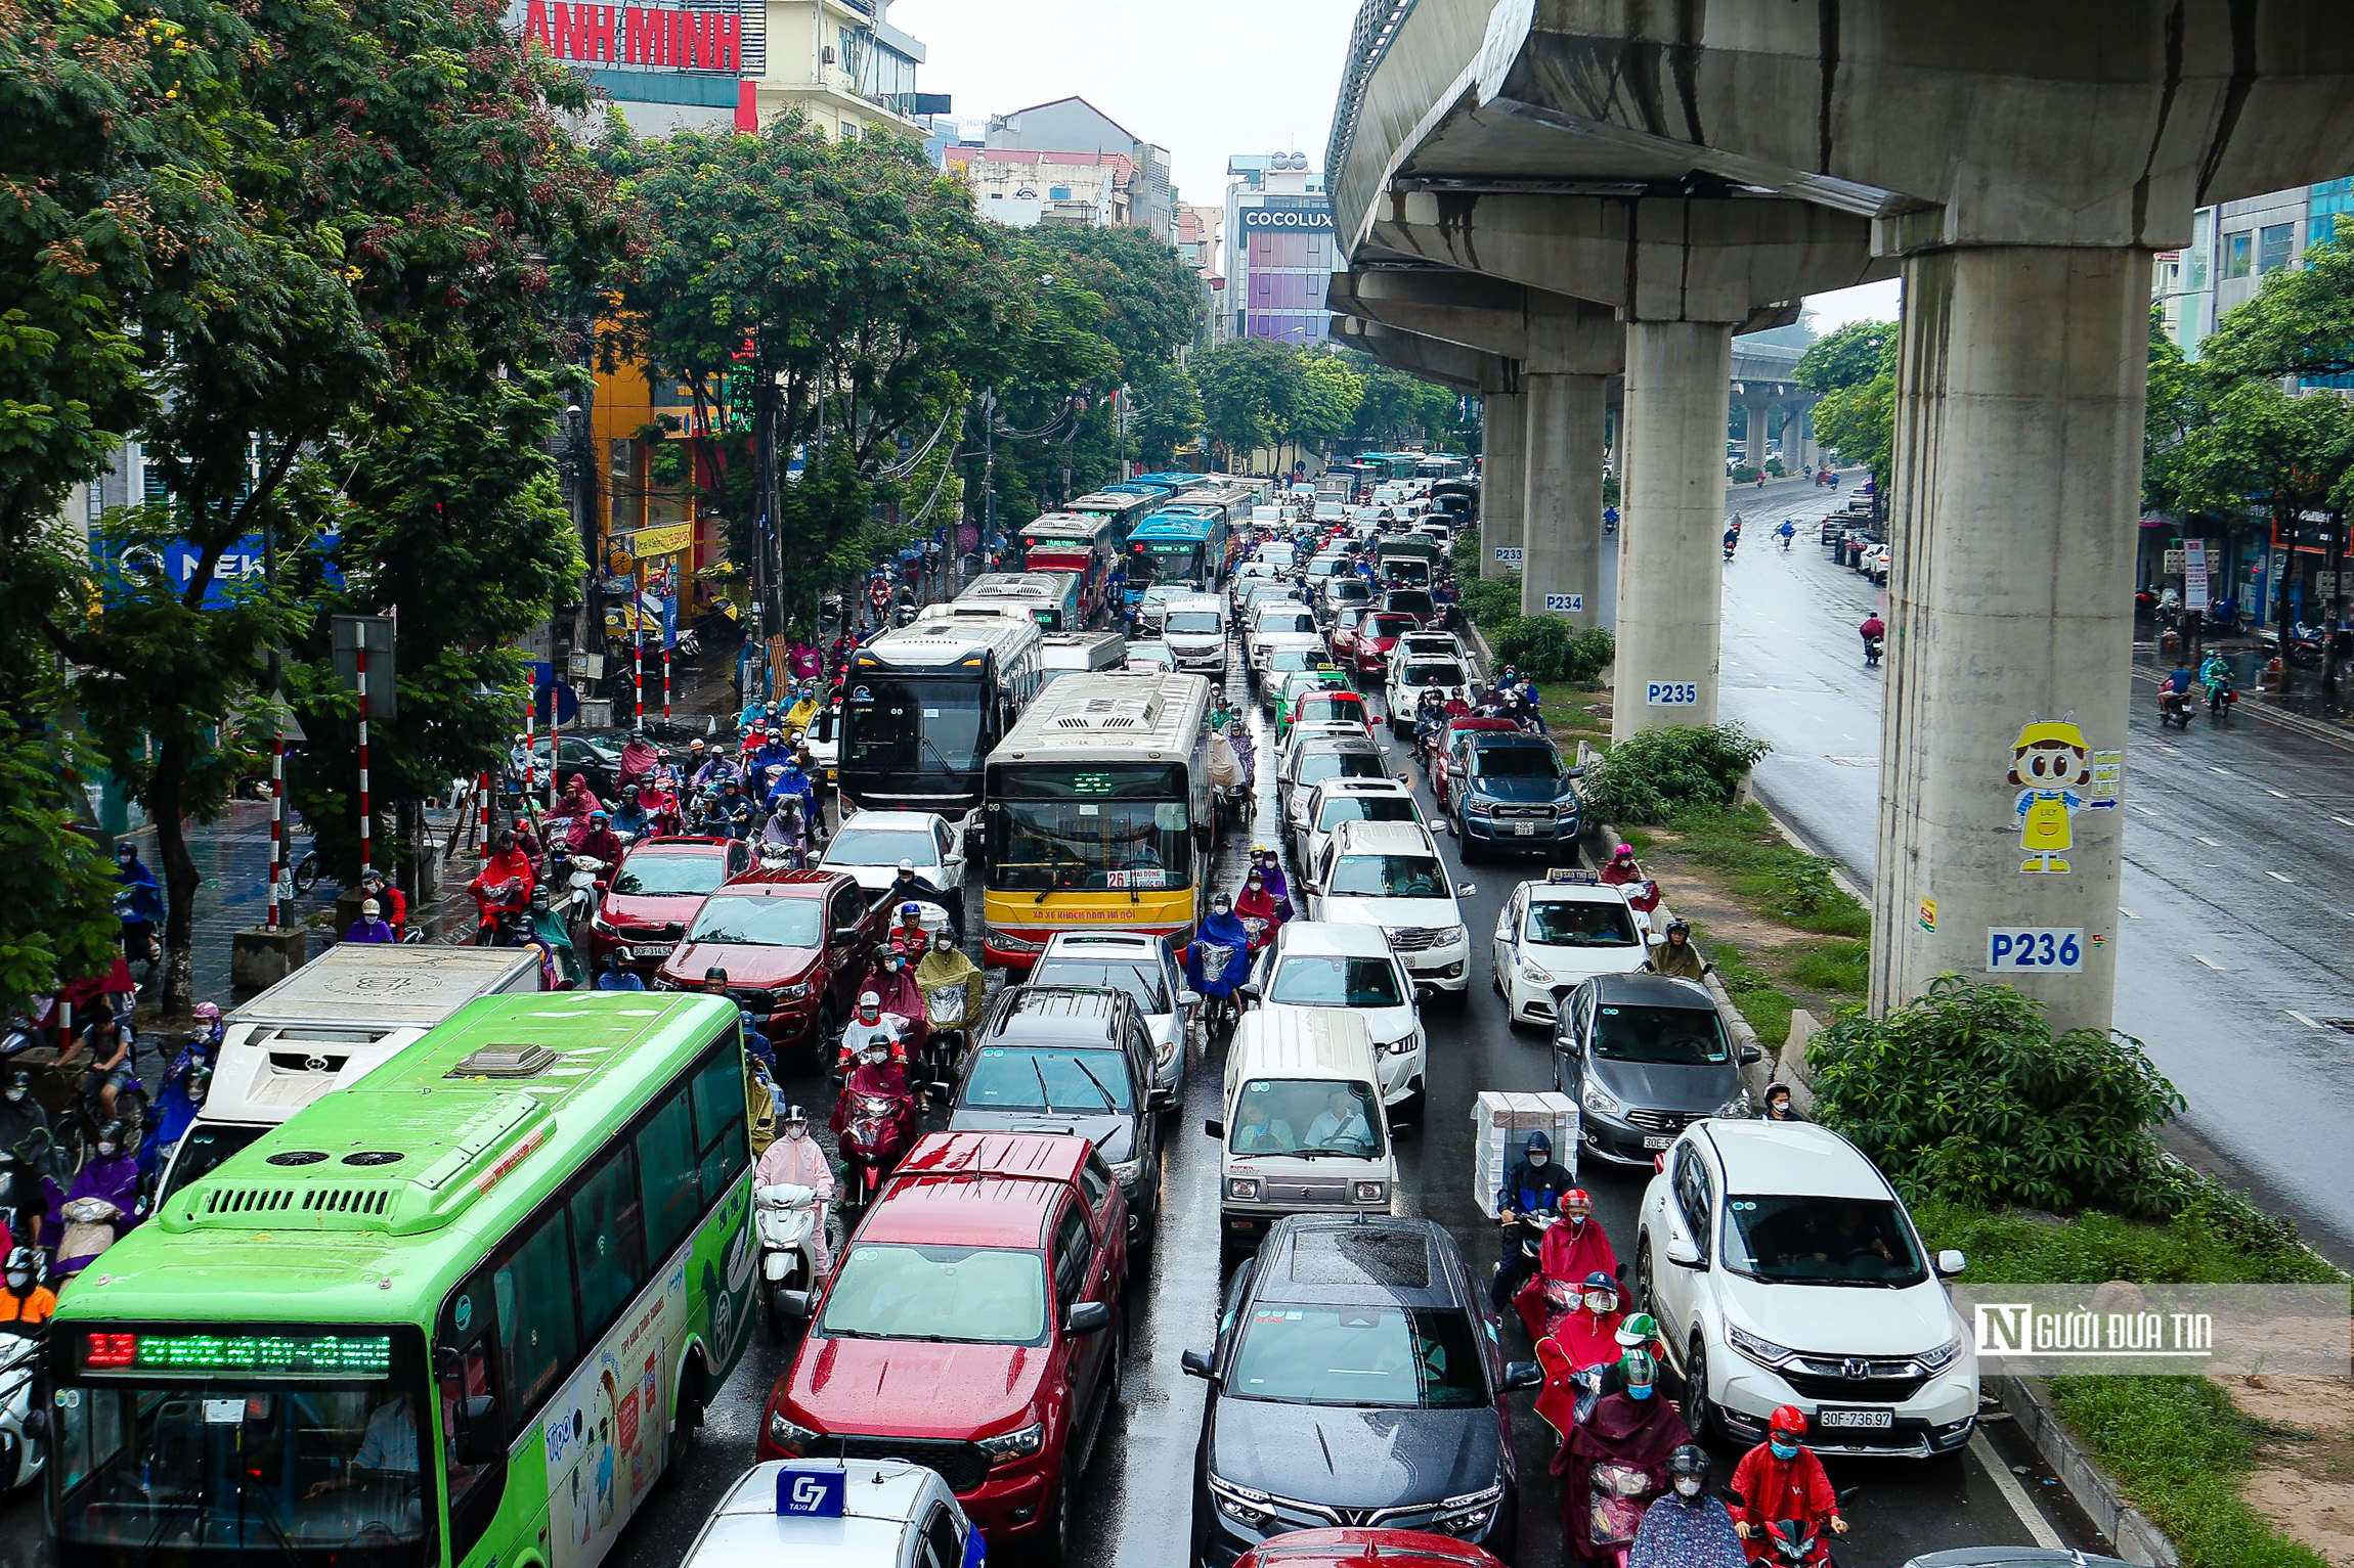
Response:
[[[1577,1100],[1580,1143],[1603,1159],[1648,1166],[1702,1117],[1747,1117],[1742,1067],[1716,999],[1700,980],[1594,976],[1554,992],[1554,1088]]]

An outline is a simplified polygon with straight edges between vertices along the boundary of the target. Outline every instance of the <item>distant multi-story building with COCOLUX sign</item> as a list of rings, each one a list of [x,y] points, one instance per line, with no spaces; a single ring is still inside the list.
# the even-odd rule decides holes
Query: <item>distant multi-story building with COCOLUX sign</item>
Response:
[[[1306,153],[1226,160],[1226,287],[1219,339],[1323,343],[1325,284],[1337,261],[1332,202]]]

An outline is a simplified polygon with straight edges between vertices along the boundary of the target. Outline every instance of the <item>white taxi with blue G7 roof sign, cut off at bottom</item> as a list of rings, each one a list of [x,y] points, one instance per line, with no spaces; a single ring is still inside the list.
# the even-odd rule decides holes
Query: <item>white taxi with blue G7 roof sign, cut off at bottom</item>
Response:
[[[765,1460],[727,1488],[680,1568],[982,1568],[982,1533],[909,1460]]]

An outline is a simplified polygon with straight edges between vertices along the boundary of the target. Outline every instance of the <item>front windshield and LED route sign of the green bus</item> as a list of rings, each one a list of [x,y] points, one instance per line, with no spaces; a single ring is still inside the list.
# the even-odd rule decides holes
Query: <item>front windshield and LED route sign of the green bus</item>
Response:
[[[49,1458],[73,1493],[66,1561],[405,1556],[426,1540],[417,1460],[433,1450],[412,1335],[78,1335]]]

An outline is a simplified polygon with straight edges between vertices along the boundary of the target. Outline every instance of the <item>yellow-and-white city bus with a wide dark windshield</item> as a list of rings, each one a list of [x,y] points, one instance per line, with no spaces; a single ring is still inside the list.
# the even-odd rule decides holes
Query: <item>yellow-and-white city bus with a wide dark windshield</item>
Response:
[[[1057,931],[1193,940],[1210,877],[1210,682],[1064,675],[989,755],[982,952],[1029,969]]]

